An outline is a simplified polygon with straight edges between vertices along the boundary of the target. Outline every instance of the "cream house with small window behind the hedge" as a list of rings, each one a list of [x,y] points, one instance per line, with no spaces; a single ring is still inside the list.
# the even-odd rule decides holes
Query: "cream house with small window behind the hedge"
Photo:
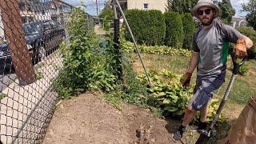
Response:
[[[167,0],[118,0],[122,10],[161,10],[166,12]]]

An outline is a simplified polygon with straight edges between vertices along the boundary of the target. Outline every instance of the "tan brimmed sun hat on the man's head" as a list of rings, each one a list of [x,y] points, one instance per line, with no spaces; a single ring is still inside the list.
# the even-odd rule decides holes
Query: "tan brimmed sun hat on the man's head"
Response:
[[[198,9],[202,6],[206,6],[206,7],[211,7],[215,10],[216,14],[214,15],[214,18],[218,17],[218,14],[220,13],[220,9],[217,5],[214,4],[213,1],[211,0],[199,0],[197,5],[193,7],[192,9],[192,13],[194,14],[195,17],[199,17],[198,16]]]

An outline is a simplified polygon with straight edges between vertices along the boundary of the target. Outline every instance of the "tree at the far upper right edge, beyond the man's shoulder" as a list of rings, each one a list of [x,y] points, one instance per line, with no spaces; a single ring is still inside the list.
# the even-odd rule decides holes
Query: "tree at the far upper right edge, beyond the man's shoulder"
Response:
[[[242,4],[242,11],[248,12],[246,15],[248,26],[252,26],[256,30],[256,1],[250,0],[247,5]]]

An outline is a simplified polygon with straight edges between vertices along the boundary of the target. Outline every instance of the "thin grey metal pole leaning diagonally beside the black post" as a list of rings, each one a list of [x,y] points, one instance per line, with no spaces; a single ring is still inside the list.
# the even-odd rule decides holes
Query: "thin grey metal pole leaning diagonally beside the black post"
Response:
[[[118,0],[114,0],[114,3],[116,3],[116,4],[118,5],[118,9],[120,10],[120,12],[121,12],[121,14],[122,14],[122,17],[123,17],[123,19],[124,19],[124,22],[126,22],[127,29],[129,30],[130,36],[131,36],[131,38],[133,39],[133,42],[134,42],[134,46],[136,47],[136,50],[137,50],[137,53],[138,53],[138,57],[139,57],[140,61],[142,62],[142,66],[143,66],[144,72],[145,72],[145,74],[146,74],[147,81],[149,82],[149,84],[150,84],[150,86],[151,86],[151,82],[150,82],[149,75],[148,75],[147,72],[146,72],[146,67],[145,67],[144,62],[143,62],[143,60],[142,60],[141,54],[140,54],[140,52],[139,52],[139,50],[138,50],[137,42],[135,41],[133,32],[130,30],[129,23],[127,22],[126,16],[125,16],[125,14],[124,14],[123,11],[122,11],[122,7],[120,6]]]

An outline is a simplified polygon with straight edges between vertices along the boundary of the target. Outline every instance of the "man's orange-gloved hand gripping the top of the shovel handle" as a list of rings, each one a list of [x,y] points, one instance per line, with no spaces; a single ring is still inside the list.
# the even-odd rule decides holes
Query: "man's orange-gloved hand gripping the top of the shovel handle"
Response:
[[[244,58],[247,55],[246,52],[246,40],[245,38],[239,38],[235,45],[235,55],[238,58]]]

